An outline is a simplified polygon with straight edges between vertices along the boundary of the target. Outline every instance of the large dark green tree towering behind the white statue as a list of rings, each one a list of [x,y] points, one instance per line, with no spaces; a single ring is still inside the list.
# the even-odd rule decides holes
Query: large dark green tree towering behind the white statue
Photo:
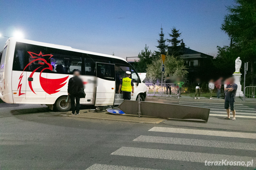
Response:
[[[225,48],[226,55],[222,56],[220,52],[220,56],[231,59],[230,62],[240,56],[242,61],[249,62],[247,77],[250,77],[252,84],[255,84],[256,1],[235,0],[235,2],[236,5],[227,7],[229,14],[225,15],[221,26],[221,29],[232,38],[232,43],[230,47]]]

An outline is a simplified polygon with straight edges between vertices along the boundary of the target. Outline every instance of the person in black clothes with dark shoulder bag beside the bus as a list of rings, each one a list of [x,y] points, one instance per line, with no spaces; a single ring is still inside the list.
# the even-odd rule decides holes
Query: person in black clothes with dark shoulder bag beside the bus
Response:
[[[69,79],[69,84],[68,84],[68,95],[71,101],[72,115],[78,115],[80,110],[80,98],[78,96],[78,91],[80,90],[80,88],[83,88],[83,82],[79,78],[79,75],[80,75],[79,70],[73,70],[73,77]],[[76,109],[75,109],[75,100],[76,100],[76,106],[77,106]]]

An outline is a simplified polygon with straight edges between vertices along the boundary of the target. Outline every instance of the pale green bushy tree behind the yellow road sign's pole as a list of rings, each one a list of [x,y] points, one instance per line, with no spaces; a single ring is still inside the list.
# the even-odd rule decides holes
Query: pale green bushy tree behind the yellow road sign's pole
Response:
[[[180,77],[187,76],[187,67],[184,65],[182,59],[175,58],[174,56],[166,55],[166,59],[164,62],[165,65],[165,73],[163,75],[163,80],[166,77],[176,75]],[[152,64],[148,65],[147,67],[147,81],[156,83],[161,81],[161,66],[162,66],[162,59],[154,59]]]

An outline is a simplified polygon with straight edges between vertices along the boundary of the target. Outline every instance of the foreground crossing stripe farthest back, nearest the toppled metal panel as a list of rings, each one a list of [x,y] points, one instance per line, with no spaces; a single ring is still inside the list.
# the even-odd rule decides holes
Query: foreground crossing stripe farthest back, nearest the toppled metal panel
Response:
[[[172,128],[172,127],[153,127],[148,131],[256,139],[256,133],[244,133],[244,132],[226,132],[226,131],[214,131],[214,130]]]

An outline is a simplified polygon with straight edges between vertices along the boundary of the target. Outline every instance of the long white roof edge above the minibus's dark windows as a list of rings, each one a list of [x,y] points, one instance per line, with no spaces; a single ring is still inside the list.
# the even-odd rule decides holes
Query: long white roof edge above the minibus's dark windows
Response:
[[[38,46],[45,46],[45,47],[51,47],[51,48],[58,48],[58,49],[62,49],[62,50],[68,50],[68,51],[75,51],[75,52],[80,52],[80,53],[86,53],[86,54],[92,54],[92,55],[98,55],[98,56],[104,56],[104,57],[110,57],[110,58],[116,58],[116,59],[120,59],[123,61],[126,61],[125,59],[121,58],[121,57],[117,57],[117,56],[113,56],[113,55],[108,55],[108,54],[101,54],[101,53],[96,53],[96,52],[91,52],[91,51],[85,51],[85,50],[79,50],[79,49],[75,49],[72,48],[70,46],[63,46],[63,45],[57,45],[57,44],[51,44],[51,43],[43,43],[43,42],[39,42],[39,41],[32,41],[32,40],[27,40],[27,39],[17,39],[15,37],[11,37],[9,38],[6,43],[8,41],[16,41],[16,42],[21,42],[21,43],[27,43],[27,44],[33,44],[33,45],[38,45]],[[127,62],[127,61],[126,61]]]

